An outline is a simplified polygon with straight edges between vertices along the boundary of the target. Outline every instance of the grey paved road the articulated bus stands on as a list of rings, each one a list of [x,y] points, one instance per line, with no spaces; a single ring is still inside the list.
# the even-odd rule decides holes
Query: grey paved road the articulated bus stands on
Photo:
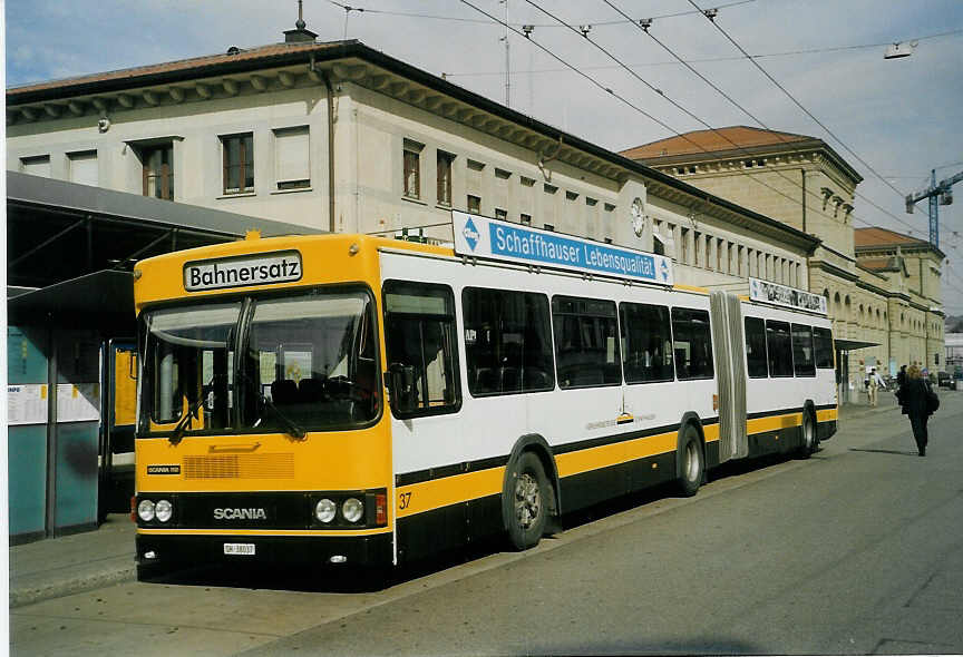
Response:
[[[372,594],[126,584],[14,609],[14,655],[963,653],[963,392]]]

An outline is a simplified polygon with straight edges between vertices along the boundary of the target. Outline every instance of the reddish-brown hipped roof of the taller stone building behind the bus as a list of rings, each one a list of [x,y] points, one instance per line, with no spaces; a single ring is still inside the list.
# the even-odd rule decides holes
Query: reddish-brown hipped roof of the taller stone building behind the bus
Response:
[[[630,159],[648,159],[651,157],[670,157],[673,155],[691,155],[697,153],[718,153],[733,148],[753,148],[757,146],[774,146],[798,141],[811,141],[813,137],[760,130],[747,126],[730,126],[714,130],[696,130],[675,137],[643,144],[628,150],[622,150]]]

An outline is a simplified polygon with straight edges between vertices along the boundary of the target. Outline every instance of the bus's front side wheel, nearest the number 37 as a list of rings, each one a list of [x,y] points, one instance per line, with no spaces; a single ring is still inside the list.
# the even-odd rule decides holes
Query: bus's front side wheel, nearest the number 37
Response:
[[[538,545],[548,519],[551,494],[542,461],[534,452],[522,452],[509,467],[502,502],[512,548],[522,551]]]

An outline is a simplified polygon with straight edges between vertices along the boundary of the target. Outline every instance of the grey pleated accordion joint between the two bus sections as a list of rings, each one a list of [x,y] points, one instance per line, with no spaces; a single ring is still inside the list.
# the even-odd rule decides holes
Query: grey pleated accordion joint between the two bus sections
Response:
[[[716,380],[719,385],[719,462],[749,455],[746,432],[746,351],[742,305],[731,292],[709,295]]]

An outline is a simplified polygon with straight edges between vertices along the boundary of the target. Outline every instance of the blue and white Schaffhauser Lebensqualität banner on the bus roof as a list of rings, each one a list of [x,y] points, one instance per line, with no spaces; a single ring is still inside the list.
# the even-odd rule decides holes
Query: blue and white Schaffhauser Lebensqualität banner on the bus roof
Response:
[[[558,267],[672,285],[672,261],[662,255],[558,235],[451,210],[455,253],[525,265]]]

